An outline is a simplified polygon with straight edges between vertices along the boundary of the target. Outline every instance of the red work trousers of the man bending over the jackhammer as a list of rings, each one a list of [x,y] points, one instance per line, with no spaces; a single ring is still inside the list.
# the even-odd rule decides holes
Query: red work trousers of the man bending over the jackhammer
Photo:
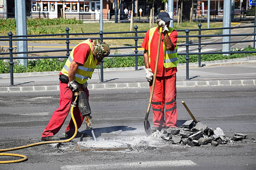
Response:
[[[56,133],[59,132],[61,129],[61,126],[63,125],[64,121],[67,118],[67,115],[69,114],[69,110],[71,107],[72,101],[74,101],[74,93],[66,83],[62,83],[61,81],[59,82],[59,87],[60,87],[60,100],[59,100],[59,108],[55,110],[53,115],[51,116],[51,120],[44,129],[44,132],[42,133],[42,137],[47,137],[47,136],[53,136]],[[83,91],[86,93],[87,98],[89,100],[89,91],[88,89],[83,89]],[[84,120],[84,117],[81,115],[79,108],[74,107],[73,110],[74,118],[77,123],[77,128],[80,128],[82,125],[82,122]],[[66,133],[69,132],[69,134],[74,134],[75,127],[74,127],[74,122],[71,119],[69,121],[69,125],[66,128]]]

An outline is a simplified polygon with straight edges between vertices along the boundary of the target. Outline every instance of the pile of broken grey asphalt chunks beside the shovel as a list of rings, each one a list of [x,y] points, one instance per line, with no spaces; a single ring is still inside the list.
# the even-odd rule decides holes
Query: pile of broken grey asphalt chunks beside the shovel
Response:
[[[189,146],[212,145],[218,146],[223,144],[233,145],[235,141],[246,139],[246,134],[234,133],[234,136],[225,137],[221,128],[208,128],[202,122],[195,123],[193,120],[187,120],[181,127],[162,129],[152,134],[153,137],[159,136],[172,144],[181,144]],[[254,141],[256,143],[256,141]]]

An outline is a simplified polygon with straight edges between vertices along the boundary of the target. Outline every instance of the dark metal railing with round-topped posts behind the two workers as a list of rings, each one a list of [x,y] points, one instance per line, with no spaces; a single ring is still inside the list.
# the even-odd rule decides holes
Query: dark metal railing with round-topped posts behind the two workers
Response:
[[[253,42],[253,48],[255,49],[255,28],[256,25],[252,26],[241,26],[241,27],[226,27],[226,28],[201,28],[202,24],[198,24],[198,29],[185,29],[185,30],[176,30],[177,32],[185,32],[186,35],[178,35],[178,38],[186,38],[185,44],[178,44],[178,46],[185,46],[186,52],[178,52],[177,55],[186,55],[186,80],[189,80],[189,55],[198,55],[198,67],[202,67],[201,65],[201,55],[202,54],[234,54],[234,53],[256,53],[254,51],[225,51],[225,52],[201,52],[201,45],[212,45],[212,44],[225,44],[225,43],[242,43],[242,42]],[[204,30],[223,30],[223,29],[236,29],[236,28],[254,28],[253,34],[220,34],[220,35],[201,35],[201,31]],[[45,59],[45,58],[67,58],[69,56],[69,52],[72,49],[69,49],[69,40],[86,40],[90,38],[92,40],[99,39],[99,37],[82,37],[82,38],[70,38],[70,35],[100,35],[101,40],[114,40],[114,39],[134,39],[134,46],[125,46],[125,47],[110,47],[110,49],[131,49],[135,48],[134,54],[119,54],[119,55],[109,55],[108,57],[135,57],[135,70],[138,70],[138,56],[143,56],[143,54],[138,54],[138,39],[143,39],[144,37],[138,37],[138,33],[146,33],[146,31],[138,31],[138,26],[134,26],[135,31],[127,31],[127,32],[90,32],[90,33],[69,33],[69,28],[66,28],[66,33],[62,34],[45,34],[45,35],[13,35],[10,31],[8,32],[8,36],[0,36],[0,41],[9,41],[9,52],[2,52],[0,55],[10,55],[10,57],[0,57],[1,60],[8,59],[10,60],[10,85],[13,86],[13,59]],[[198,35],[189,35],[190,31],[198,31]],[[120,33],[134,33],[134,37],[103,37],[106,34],[120,34]],[[242,40],[242,41],[229,41],[229,42],[209,42],[209,43],[201,43],[202,37],[227,37],[227,36],[254,36],[253,40]],[[45,36],[66,36],[65,38],[31,38],[31,37],[45,37]],[[197,37],[198,43],[191,43],[189,41],[189,37]],[[45,40],[63,40],[66,41],[67,48],[63,50],[38,50],[38,51],[24,51],[24,52],[13,52],[13,41],[45,41]],[[189,46],[198,46],[198,52],[189,52]],[[13,57],[13,54],[28,54],[28,53],[39,53],[39,52],[61,52],[66,51],[66,55],[64,56],[33,56],[33,57]],[[103,62],[100,63],[100,82],[104,82],[103,79]]]

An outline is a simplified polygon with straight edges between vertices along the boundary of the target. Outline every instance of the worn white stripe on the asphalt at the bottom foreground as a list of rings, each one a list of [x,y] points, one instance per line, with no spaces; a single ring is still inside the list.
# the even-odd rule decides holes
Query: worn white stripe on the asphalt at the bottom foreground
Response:
[[[133,163],[109,163],[95,165],[65,165],[61,170],[91,170],[91,169],[123,169],[123,168],[149,168],[149,167],[179,167],[179,166],[195,166],[192,160],[165,160],[165,161],[141,161]]]

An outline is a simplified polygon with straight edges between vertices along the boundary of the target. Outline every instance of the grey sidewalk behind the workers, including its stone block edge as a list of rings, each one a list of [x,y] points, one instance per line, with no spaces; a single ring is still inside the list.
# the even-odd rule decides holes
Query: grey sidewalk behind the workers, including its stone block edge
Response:
[[[186,64],[178,64],[177,87],[256,85],[256,56],[230,60],[189,63],[189,80]],[[100,82],[100,69],[88,80],[88,89],[148,88],[145,67],[104,69],[104,82]],[[0,74],[0,92],[38,92],[59,90],[59,71],[14,73],[14,86],[10,74]]]

